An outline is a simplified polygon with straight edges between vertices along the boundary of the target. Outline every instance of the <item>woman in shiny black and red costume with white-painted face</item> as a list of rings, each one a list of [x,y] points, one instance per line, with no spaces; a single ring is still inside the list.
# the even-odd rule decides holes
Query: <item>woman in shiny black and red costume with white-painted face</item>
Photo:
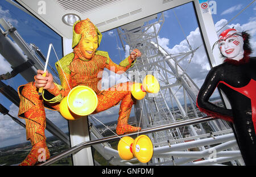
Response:
[[[232,129],[245,165],[256,165],[256,57],[250,57],[250,35],[226,29],[216,42],[224,63],[212,68],[197,95],[197,107],[209,116],[233,123]],[[213,46],[214,47],[214,46]],[[232,109],[209,102],[218,87]]]

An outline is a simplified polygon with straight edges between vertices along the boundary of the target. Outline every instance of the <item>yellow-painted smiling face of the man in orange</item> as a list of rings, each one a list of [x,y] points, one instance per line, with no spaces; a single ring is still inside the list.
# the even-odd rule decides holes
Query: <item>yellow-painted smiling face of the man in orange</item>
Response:
[[[79,42],[79,48],[82,52],[82,55],[86,59],[90,60],[94,56],[94,53],[96,52],[96,49],[98,48],[98,37],[97,36],[90,36],[90,37],[82,36],[82,38]]]

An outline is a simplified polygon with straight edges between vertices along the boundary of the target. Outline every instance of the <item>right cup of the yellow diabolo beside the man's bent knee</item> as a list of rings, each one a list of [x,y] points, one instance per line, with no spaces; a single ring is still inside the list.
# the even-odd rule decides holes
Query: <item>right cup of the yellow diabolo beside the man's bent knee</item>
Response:
[[[153,75],[146,75],[142,82],[143,88],[150,93],[157,93],[160,89],[158,80]]]

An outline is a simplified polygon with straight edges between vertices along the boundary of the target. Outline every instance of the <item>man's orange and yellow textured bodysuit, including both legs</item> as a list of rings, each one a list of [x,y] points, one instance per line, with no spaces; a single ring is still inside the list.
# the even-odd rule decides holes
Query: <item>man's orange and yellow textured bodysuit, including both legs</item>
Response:
[[[119,65],[114,64],[109,58],[108,52],[98,50],[88,60],[82,54],[79,45],[76,44],[72,53],[61,58],[60,62],[56,62],[61,85],[54,83],[54,88],[44,90],[42,96],[38,95],[35,82],[19,86],[20,106],[18,116],[26,119],[27,140],[30,140],[32,144],[30,154],[28,154],[28,157],[21,165],[34,165],[38,162],[36,158],[38,158],[38,150],[40,148],[46,150],[46,159],[49,158],[46,136],[44,135],[44,129],[46,128],[44,107],[59,111],[59,103],[64,96],[67,96],[73,87],[79,85],[88,86],[97,94],[98,106],[93,114],[105,111],[121,102],[116,128],[117,134],[134,132],[141,129],[127,124],[131,108],[136,102],[130,91],[133,82],[119,83],[107,90],[101,90],[101,72],[104,68],[109,70],[114,68],[115,73],[119,73],[119,71],[129,69],[132,62],[133,60],[129,56]]]

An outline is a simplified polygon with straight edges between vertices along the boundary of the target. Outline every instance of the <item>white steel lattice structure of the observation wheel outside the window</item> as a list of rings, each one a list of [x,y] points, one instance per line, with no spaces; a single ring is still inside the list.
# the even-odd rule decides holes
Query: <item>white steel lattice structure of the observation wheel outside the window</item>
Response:
[[[134,107],[137,125],[142,129],[206,116],[196,107],[199,87],[186,73],[186,68],[180,65],[183,60],[189,67],[196,50],[203,46],[192,49],[186,39],[189,45],[187,52],[168,53],[158,43],[163,24],[162,13],[159,17],[152,15],[117,28],[124,50],[126,44],[130,50],[138,48],[142,52],[134,67],[128,70],[131,81],[142,83],[146,74],[152,74],[160,84],[158,94],[147,94]],[[232,129],[222,120],[191,124],[147,136],[154,146],[154,155],[148,165],[222,165],[224,162],[243,165]]]

